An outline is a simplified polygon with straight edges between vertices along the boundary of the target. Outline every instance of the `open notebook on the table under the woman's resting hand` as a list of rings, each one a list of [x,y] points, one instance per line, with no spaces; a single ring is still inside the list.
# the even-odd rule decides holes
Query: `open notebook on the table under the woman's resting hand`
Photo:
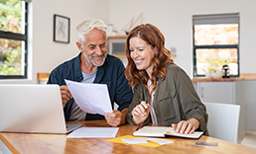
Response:
[[[202,131],[194,131],[192,134],[181,134],[175,131],[173,127],[166,126],[144,126],[135,131],[134,136],[148,136],[148,137],[185,137],[197,139],[202,135]]]

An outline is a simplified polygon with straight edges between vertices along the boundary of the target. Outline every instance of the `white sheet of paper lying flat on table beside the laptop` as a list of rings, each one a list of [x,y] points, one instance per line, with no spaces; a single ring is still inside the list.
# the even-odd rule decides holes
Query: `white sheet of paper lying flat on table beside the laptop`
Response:
[[[119,127],[80,127],[66,138],[114,138]]]

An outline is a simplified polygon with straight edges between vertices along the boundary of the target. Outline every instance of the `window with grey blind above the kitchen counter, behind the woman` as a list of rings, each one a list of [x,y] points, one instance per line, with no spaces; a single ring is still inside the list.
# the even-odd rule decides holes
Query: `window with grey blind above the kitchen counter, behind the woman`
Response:
[[[193,76],[222,70],[239,76],[239,14],[193,16]]]

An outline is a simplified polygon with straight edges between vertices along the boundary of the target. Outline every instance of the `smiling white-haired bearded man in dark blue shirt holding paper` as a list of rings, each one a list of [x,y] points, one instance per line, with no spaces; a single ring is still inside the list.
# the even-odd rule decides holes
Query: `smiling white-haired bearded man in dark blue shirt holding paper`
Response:
[[[76,27],[76,46],[79,54],[56,67],[48,84],[61,87],[66,121],[106,119],[111,126],[126,122],[128,108],[132,101],[132,89],[124,76],[124,65],[120,59],[107,54],[107,26],[101,20],[84,21]],[[64,79],[82,83],[100,83],[108,87],[112,109],[114,102],[118,111],[105,116],[84,113],[76,105],[65,85]]]

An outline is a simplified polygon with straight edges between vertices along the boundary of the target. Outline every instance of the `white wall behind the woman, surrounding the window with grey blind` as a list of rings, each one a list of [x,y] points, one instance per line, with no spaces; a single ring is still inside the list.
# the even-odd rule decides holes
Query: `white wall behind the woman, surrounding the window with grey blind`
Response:
[[[256,73],[255,0],[109,0],[109,23],[119,34],[134,17],[157,26],[166,47],[176,47],[175,62],[192,77],[192,15],[240,13],[240,73]]]

